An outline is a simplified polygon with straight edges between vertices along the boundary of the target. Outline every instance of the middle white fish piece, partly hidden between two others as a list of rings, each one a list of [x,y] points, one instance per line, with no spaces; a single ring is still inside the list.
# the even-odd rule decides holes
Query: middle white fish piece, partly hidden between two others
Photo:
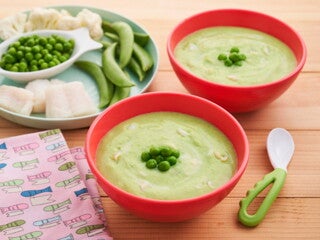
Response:
[[[34,94],[34,104],[33,104],[33,113],[44,113],[46,111],[46,90],[51,84],[62,84],[63,81],[59,79],[36,79],[29,82],[25,89],[33,92]]]

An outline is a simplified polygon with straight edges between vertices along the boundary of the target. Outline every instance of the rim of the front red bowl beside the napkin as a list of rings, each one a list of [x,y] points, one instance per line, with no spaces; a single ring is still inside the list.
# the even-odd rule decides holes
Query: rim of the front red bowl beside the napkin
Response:
[[[147,197],[138,196],[138,195],[129,193],[129,192],[121,189],[120,187],[114,185],[110,181],[108,181],[101,174],[101,172],[98,170],[98,168],[95,165],[96,159],[94,159],[91,156],[90,151],[88,151],[88,149],[90,148],[90,136],[92,135],[93,131],[95,131],[96,124],[103,118],[103,116],[105,114],[107,114],[109,111],[112,111],[112,109],[116,108],[118,105],[123,105],[123,104],[126,104],[127,102],[134,101],[135,99],[148,97],[150,95],[151,96],[158,95],[161,97],[166,96],[166,95],[172,95],[172,96],[176,96],[176,97],[188,97],[190,99],[193,99],[193,100],[196,100],[196,101],[199,101],[202,103],[207,103],[207,104],[211,105],[212,107],[214,107],[217,111],[222,112],[227,118],[229,118],[235,124],[235,127],[240,131],[242,142],[244,143],[244,146],[243,146],[244,151],[243,151],[243,159],[242,159],[243,161],[242,161],[241,165],[239,165],[239,164],[237,165],[237,169],[236,169],[234,175],[225,184],[221,185],[220,187],[218,187],[216,189],[213,189],[209,193],[195,196],[192,198],[176,199],[176,200],[161,200],[161,199],[147,198]],[[126,119],[128,119],[128,118],[126,118]],[[98,142],[100,142],[100,140]],[[233,144],[233,142],[232,142],[232,144]],[[224,108],[222,108],[218,104],[211,102],[207,99],[204,99],[202,97],[198,97],[198,96],[186,94],[186,93],[175,93],[175,92],[165,92],[165,91],[163,91],[163,92],[161,92],[161,91],[148,92],[148,93],[144,93],[141,95],[132,96],[130,98],[126,98],[124,100],[121,100],[121,101],[115,103],[110,108],[107,108],[103,113],[101,113],[97,118],[95,118],[95,120],[92,122],[90,128],[88,129],[86,139],[85,139],[85,148],[84,149],[85,149],[85,152],[87,155],[88,164],[89,164],[92,172],[98,176],[98,178],[97,178],[98,183],[101,183],[101,181],[104,183],[107,183],[107,185],[109,185],[113,189],[116,189],[117,191],[121,192],[122,195],[124,195],[130,199],[134,199],[134,200],[138,200],[138,201],[145,201],[145,203],[150,203],[150,204],[161,204],[161,205],[187,204],[187,203],[191,203],[191,202],[197,202],[199,200],[202,201],[202,200],[210,198],[212,195],[219,194],[220,192],[224,192],[226,188],[232,187],[233,185],[235,185],[239,181],[240,177],[245,172],[245,169],[246,169],[248,161],[249,161],[249,141],[248,141],[247,135],[246,135],[244,129],[242,128],[241,124],[236,120],[236,118],[231,113],[229,113],[227,110],[225,110]],[[237,163],[239,163],[238,160],[237,160]]]

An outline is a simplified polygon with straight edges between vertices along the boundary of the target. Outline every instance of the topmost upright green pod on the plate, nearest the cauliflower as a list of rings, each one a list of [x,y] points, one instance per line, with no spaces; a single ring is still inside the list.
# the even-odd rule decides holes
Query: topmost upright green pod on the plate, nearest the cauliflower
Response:
[[[116,31],[119,36],[119,65],[124,68],[132,56],[133,51],[133,31],[130,25],[126,22],[114,22],[111,27]]]

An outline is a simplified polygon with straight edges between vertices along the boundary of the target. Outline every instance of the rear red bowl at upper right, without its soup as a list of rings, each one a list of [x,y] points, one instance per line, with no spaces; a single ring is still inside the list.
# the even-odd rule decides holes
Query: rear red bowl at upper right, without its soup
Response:
[[[214,26],[245,27],[272,35],[291,48],[297,59],[297,66],[289,75],[279,80],[255,86],[230,86],[197,77],[176,60],[174,49],[185,36]],[[207,98],[230,112],[253,111],[274,101],[294,82],[306,61],[305,43],[294,29],[274,17],[240,9],[211,10],[185,19],[170,34],[167,53],[173,70],[190,93]]]

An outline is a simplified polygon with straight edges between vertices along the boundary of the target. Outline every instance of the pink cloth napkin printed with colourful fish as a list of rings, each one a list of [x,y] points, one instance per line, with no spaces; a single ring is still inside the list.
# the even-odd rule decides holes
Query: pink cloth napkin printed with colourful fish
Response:
[[[83,149],[60,130],[0,139],[0,239],[112,239]]]

